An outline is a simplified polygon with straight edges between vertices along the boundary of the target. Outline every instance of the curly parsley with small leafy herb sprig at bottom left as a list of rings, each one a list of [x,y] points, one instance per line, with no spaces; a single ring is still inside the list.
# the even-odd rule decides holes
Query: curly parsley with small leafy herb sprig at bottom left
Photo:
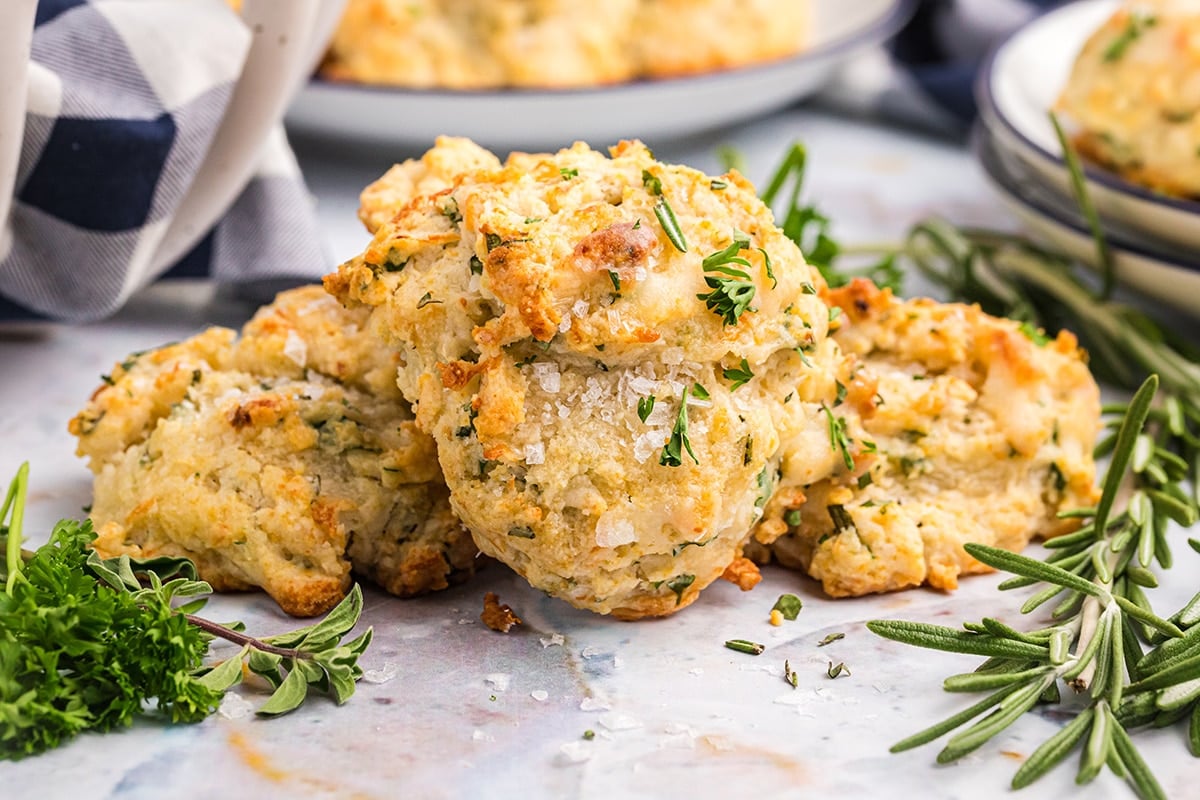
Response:
[[[244,663],[275,687],[259,715],[295,709],[313,687],[337,703],[353,694],[371,642],[370,628],[343,642],[362,610],[358,587],[316,625],[250,637],[196,615],[211,588],[190,560],[101,559],[90,521],[64,519],[46,545],[23,551],[28,476],[22,465],[0,506],[0,758],[128,726],[146,709],[197,722],[241,680]],[[214,637],[241,650],[205,664]]]

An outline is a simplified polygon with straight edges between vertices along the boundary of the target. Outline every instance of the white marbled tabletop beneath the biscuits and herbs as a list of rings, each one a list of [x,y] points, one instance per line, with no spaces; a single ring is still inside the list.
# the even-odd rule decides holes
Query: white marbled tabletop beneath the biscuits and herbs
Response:
[[[731,142],[761,180],[794,137],[809,144],[812,194],[848,240],[893,237],[930,212],[1009,224],[959,148],[811,112],[702,140],[650,144],[660,157],[715,169],[714,145]],[[300,155],[331,255],[346,258],[366,239],[354,219],[358,190],[407,154],[302,143]],[[72,455],[66,421],[98,375],[132,350],[206,324],[236,325],[250,311],[204,285],[174,284],[152,288],[104,323],[0,333],[0,477],[30,461],[28,525],[35,536],[90,500],[89,474]],[[1182,537],[1178,561],[1153,595],[1162,609],[1195,590],[1198,561]],[[378,682],[360,684],[346,706],[318,699],[259,721],[245,715],[245,704],[230,704],[198,726],[139,722],[122,733],[85,735],[38,758],[0,763],[0,796],[1002,796],[1020,760],[1061,717],[1054,710],[1027,715],[953,766],[935,765],[936,746],[890,756],[892,742],[970,702],[940,685],[977,660],[884,642],[863,626],[881,616],[954,625],[995,615],[1022,624],[1020,599],[997,593],[997,582],[970,578],[954,594],[830,601],[812,582],[768,569],[752,593],[719,582],[683,613],[635,624],[572,609],[499,565],[434,597],[398,601],[368,591],[365,621],[376,640],[362,664]],[[526,625],[508,636],[484,627],[486,590]],[[800,595],[804,610],[772,627],[767,615],[784,591]],[[259,632],[293,625],[256,595],[218,597],[209,612]],[[839,631],[845,639],[817,648]],[[767,651],[733,652],[722,646],[728,638],[762,642]],[[782,678],[785,660],[799,676],[794,690]],[[851,674],[830,680],[830,661]],[[595,738],[584,740],[586,730]],[[1195,796],[1200,765],[1181,730],[1139,734],[1136,742],[1169,796]],[[1058,770],[1021,796],[1132,794],[1108,775],[1076,788],[1073,774]]]

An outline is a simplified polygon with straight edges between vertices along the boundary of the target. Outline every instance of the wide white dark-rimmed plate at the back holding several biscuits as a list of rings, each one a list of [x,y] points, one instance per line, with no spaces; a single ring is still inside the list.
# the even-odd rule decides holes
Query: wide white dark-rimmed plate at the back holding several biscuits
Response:
[[[421,91],[313,80],[288,112],[300,132],[426,148],[466,136],[498,151],[554,149],[582,139],[653,143],[737,122],[820,89],[857,50],[882,42],[911,0],[815,0],[812,41],[768,65],[580,90]]]

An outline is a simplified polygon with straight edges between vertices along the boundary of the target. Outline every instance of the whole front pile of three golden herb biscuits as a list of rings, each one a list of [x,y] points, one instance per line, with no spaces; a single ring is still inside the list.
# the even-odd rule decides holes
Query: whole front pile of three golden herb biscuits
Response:
[[[833,596],[953,589],[965,542],[1094,499],[1073,336],[829,289],[736,172],[443,138],[360,216],[323,288],[130,356],[72,420],[102,554],[307,615],[352,571],[410,596],[481,553],[637,619],[772,559]]]

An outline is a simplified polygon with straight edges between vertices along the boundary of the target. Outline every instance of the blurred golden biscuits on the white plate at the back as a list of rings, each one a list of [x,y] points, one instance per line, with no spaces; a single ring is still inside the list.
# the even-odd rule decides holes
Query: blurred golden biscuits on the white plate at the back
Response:
[[[797,53],[808,0],[350,0],[324,77],[420,89],[598,86]]]

